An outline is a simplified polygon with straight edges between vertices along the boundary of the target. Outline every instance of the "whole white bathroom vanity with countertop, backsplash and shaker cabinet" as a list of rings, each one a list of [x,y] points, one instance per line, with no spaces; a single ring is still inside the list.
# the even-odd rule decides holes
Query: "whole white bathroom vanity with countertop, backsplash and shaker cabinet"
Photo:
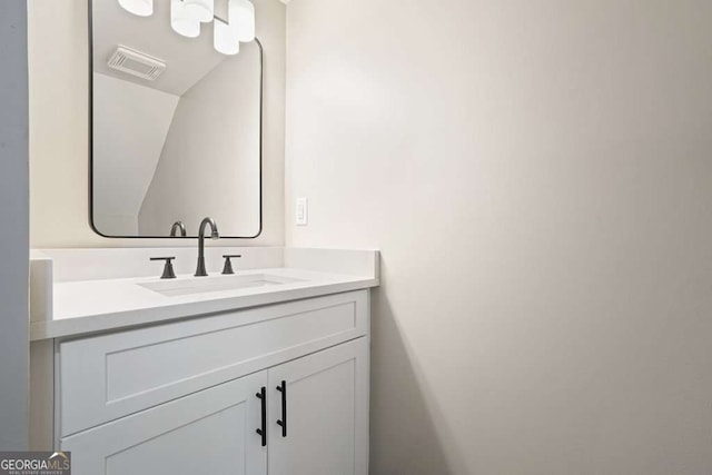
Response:
[[[33,448],[77,475],[366,475],[377,253],[255,248],[221,276],[211,250],[171,280],[126,277],[150,249],[37,256]]]

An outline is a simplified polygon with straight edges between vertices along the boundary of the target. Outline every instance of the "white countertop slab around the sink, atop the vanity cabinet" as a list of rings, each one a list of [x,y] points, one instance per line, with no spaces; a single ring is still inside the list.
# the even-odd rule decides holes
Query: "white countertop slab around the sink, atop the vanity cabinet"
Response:
[[[357,290],[378,285],[377,276],[354,276],[294,268],[238,270],[235,275],[258,274],[298,279],[298,281],[170,297],[140,285],[161,281],[156,277],[55,283],[51,318],[31,321],[30,339],[40,340],[126,329],[131,326]],[[195,278],[190,275],[181,275],[174,281]],[[210,278],[219,279],[221,276],[216,275]]]

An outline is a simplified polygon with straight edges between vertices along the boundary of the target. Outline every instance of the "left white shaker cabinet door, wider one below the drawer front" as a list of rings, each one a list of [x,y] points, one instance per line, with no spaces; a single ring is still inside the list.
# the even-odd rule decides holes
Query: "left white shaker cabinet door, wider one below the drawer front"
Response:
[[[266,475],[267,372],[195,393],[61,439],[75,475]]]

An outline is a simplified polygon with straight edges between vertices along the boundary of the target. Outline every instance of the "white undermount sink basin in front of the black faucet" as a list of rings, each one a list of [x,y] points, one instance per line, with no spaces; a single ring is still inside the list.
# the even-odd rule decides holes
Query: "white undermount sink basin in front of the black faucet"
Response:
[[[177,297],[190,294],[210,291],[237,290],[251,287],[264,287],[301,281],[291,277],[273,276],[269,274],[248,274],[241,276],[212,276],[181,278],[176,280],[160,280],[139,286],[161,294],[166,297]]]

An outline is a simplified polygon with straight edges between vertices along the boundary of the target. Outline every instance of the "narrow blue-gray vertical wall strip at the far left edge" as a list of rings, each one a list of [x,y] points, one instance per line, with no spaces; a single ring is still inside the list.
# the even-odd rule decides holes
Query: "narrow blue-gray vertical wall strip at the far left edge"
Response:
[[[27,3],[0,2],[0,451],[27,448]]]

